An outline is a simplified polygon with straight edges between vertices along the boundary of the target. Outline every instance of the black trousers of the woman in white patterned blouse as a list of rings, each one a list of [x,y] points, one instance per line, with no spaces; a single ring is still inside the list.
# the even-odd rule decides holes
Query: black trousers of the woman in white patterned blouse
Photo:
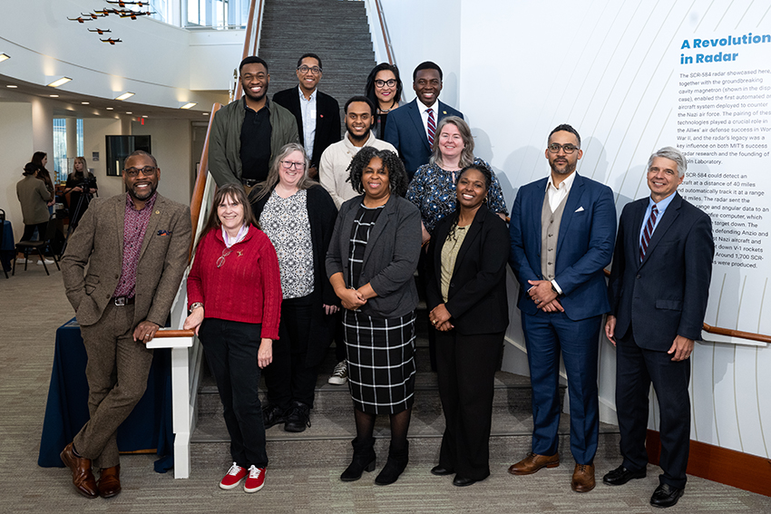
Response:
[[[287,410],[292,402],[313,407],[318,365],[307,366],[307,345],[311,337],[312,295],[281,302],[278,341],[273,343],[273,362],[265,368],[268,402]]]

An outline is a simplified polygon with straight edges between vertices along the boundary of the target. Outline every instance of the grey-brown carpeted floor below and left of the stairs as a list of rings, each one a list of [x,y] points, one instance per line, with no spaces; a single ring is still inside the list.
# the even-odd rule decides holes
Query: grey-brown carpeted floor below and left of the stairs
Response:
[[[54,357],[54,333],[70,319],[72,308],[63,293],[62,276],[45,276],[43,267],[5,280],[0,276],[0,512],[658,512],[649,505],[658,485],[659,468],[626,486],[599,484],[587,494],[570,490],[573,462],[569,452],[553,470],[529,477],[512,477],[506,469],[523,455],[495,451],[492,475],[468,488],[456,488],[452,477],[434,477],[435,451],[417,451],[405,474],[392,486],[373,484],[376,473],[362,480],[338,477],[349,450],[318,441],[271,442],[268,453],[284,456],[271,461],[266,485],[256,494],[217,487],[229,466],[225,443],[193,445],[189,480],[152,470],[155,455],[122,457],[123,491],[114,499],[83,499],[63,469],[37,466],[45,399]],[[276,429],[271,429],[276,430]],[[431,442],[429,442],[431,441]],[[292,445],[279,448],[278,445]],[[610,445],[609,445],[610,446]],[[378,470],[385,461],[378,446]],[[438,449],[436,449],[438,451]],[[292,455],[289,459],[286,456]],[[598,478],[615,468],[614,448],[604,448],[595,461]],[[771,512],[771,498],[690,477],[686,495],[669,512]]]

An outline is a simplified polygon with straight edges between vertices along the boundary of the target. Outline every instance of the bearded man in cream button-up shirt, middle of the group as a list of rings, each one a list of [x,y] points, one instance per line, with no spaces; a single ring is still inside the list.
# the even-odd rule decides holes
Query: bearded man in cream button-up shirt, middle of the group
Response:
[[[352,97],[346,102],[343,110],[346,112],[346,135],[342,141],[337,141],[324,150],[318,165],[318,179],[335,200],[337,209],[340,209],[344,201],[358,196],[348,180],[348,165],[358,150],[372,146],[377,150],[391,150],[396,153],[394,145],[376,139],[372,133],[376,108],[366,96]]]

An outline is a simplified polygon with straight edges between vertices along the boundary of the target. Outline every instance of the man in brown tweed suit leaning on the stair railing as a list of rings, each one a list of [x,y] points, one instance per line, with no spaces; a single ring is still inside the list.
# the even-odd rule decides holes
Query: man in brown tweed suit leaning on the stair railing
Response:
[[[128,193],[94,199],[62,258],[88,355],[90,419],[61,456],[86,498],[121,492],[116,432],[142,399],[152,363],[145,344],[165,325],[188,265],[190,208],[161,197],[160,178],[154,157],[133,152],[123,166]]]

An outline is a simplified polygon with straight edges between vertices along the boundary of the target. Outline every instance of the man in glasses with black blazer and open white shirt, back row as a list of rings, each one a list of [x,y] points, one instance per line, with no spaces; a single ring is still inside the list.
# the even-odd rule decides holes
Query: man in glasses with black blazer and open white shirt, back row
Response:
[[[305,53],[298,59],[298,87],[279,91],[273,102],[285,107],[298,121],[300,144],[305,147],[310,168],[307,174],[318,177],[318,161],[327,147],[340,141],[340,105],[337,100],[317,89],[321,80],[321,58]]]

